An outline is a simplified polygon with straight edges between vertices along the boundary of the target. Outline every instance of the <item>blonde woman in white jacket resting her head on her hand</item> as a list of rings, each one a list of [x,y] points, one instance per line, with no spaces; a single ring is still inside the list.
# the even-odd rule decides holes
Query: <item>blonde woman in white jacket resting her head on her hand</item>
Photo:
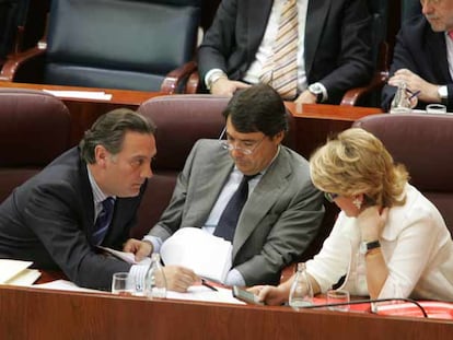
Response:
[[[353,295],[453,300],[452,235],[380,140],[346,130],[317,150],[310,165],[315,186],[341,209],[320,254],[306,262],[315,294],[346,275],[342,288]],[[280,304],[292,281],[251,291]]]

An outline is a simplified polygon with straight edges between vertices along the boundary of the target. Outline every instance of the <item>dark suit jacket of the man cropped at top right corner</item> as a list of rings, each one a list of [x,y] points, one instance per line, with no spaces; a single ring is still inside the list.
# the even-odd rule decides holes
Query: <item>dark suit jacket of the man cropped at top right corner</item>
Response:
[[[396,36],[390,75],[399,69],[409,69],[427,82],[449,87],[448,108],[453,109],[453,80],[449,72],[445,35],[433,32],[423,15],[408,20]],[[388,110],[396,87],[385,85],[382,93],[382,107]],[[419,102],[425,108],[429,103]]]

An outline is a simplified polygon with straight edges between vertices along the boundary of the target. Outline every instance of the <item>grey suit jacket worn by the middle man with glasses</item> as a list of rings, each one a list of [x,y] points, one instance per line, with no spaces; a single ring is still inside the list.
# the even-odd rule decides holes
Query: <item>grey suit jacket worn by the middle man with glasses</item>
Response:
[[[205,225],[234,166],[217,140],[200,140],[179,175],[170,206],[150,235],[167,238],[179,227]],[[279,282],[315,237],[324,214],[309,163],[281,146],[249,196],[233,239],[233,267],[247,285]]]

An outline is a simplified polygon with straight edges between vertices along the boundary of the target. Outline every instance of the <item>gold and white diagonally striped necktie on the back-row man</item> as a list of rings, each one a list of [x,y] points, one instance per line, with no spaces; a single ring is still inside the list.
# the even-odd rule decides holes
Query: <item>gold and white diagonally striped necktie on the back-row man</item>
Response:
[[[266,61],[260,81],[271,85],[283,99],[298,94],[298,5],[288,0],[280,15],[274,54]]]

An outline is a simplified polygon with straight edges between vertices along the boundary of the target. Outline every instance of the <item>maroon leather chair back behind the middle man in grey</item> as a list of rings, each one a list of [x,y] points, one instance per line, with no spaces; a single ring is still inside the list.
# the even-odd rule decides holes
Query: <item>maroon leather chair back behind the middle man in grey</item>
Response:
[[[171,95],[153,97],[139,107],[138,112],[158,127],[158,155],[152,163],[154,176],[139,210],[139,225],[131,232],[133,237],[141,238],[159,221],[195,142],[219,138],[225,125],[222,112],[229,101],[208,94]],[[290,115],[290,131],[293,126]],[[289,133],[286,144],[294,145],[293,133]]]

